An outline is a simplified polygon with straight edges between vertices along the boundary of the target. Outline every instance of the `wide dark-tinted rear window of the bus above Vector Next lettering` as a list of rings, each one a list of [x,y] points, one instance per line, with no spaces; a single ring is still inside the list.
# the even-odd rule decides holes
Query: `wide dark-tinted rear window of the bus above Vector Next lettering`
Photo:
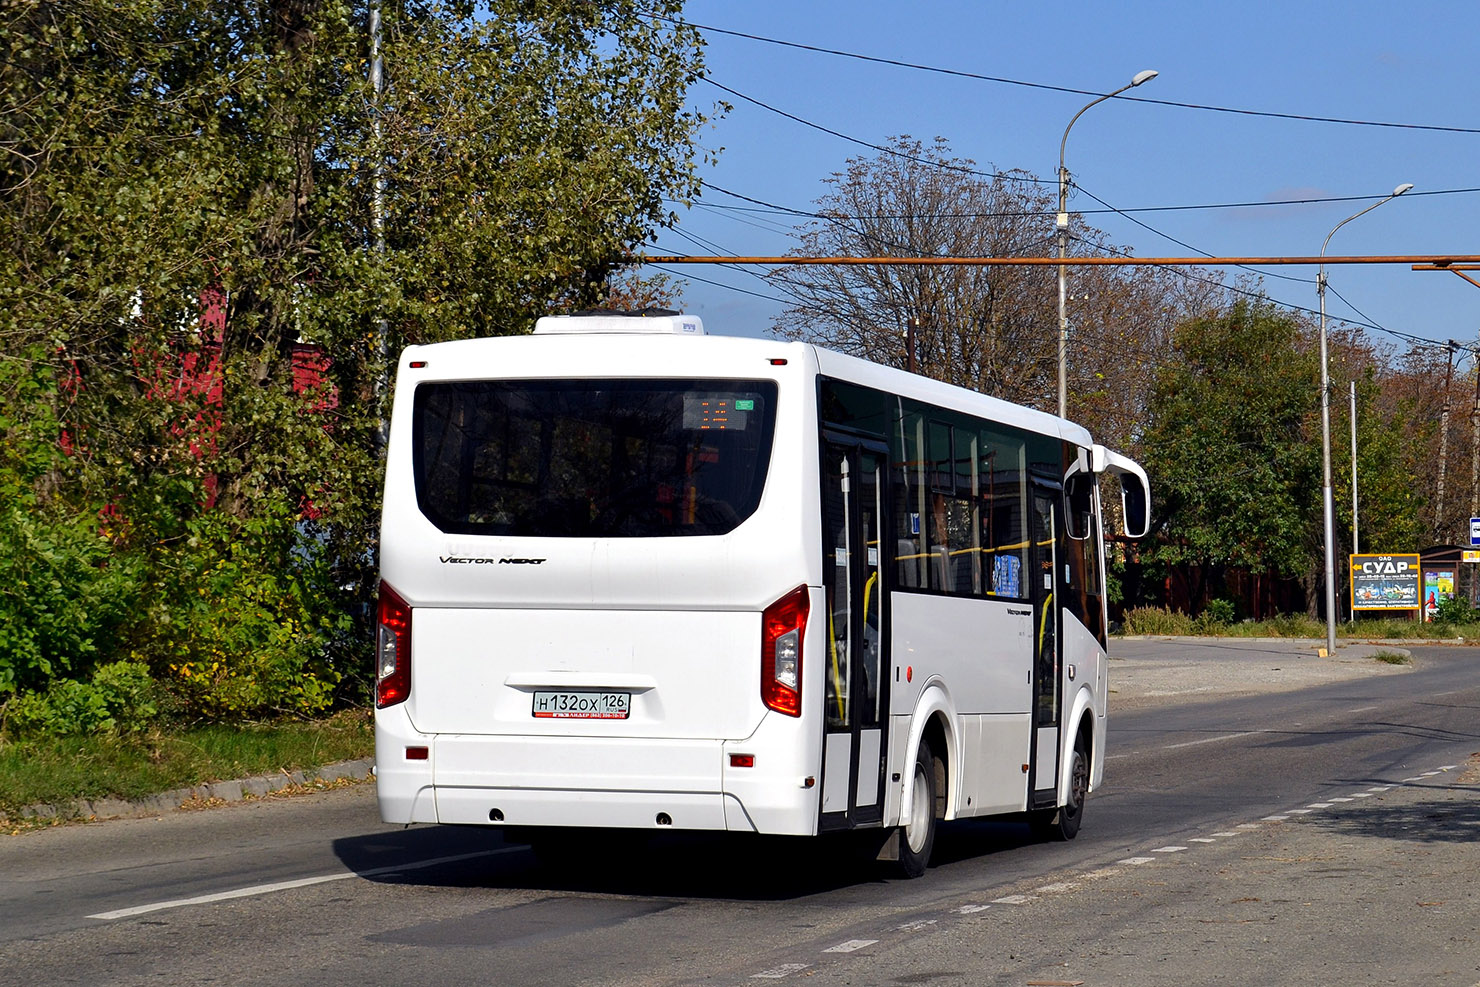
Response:
[[[422,383],[422,513],[453,534],[725,534],[761,502],[771,380]]]

